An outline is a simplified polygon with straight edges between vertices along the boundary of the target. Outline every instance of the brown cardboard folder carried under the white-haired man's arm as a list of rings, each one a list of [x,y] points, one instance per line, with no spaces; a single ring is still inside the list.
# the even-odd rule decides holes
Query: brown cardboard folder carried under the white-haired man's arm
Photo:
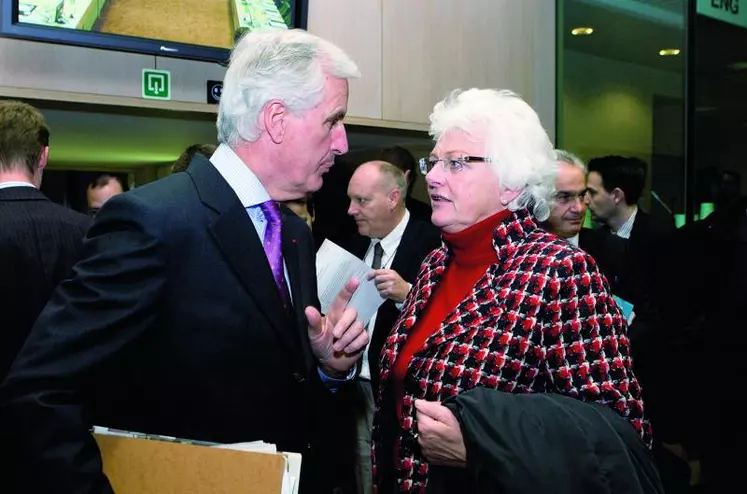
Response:
[[[94,434],[117,494],[275,494],[286,474],[282,453]],[[297,481],[296,481],[297,482]]]

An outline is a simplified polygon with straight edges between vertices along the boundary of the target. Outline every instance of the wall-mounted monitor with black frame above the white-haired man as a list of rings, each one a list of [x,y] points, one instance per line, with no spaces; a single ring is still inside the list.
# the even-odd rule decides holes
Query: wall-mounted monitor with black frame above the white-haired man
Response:
[[[246,30],[306,28],[309,0],[0,0],[0,36],[222,62]]]

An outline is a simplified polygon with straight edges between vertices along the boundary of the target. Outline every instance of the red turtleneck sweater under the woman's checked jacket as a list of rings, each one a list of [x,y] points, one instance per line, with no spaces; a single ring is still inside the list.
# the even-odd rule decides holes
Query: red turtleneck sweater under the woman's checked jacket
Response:
[[[438,287],[434,290],[420,318],[410,330],[407,341],[394,363],[394,383],[397,387],[397,417],[402,416],[402,398],[407,367],[413,355],[441,327],[441,322],[472,291],[488,267],[496,262],[493,232],[509,217],[503,210],[457,233],[444,233],[451,251],[451,260]]]

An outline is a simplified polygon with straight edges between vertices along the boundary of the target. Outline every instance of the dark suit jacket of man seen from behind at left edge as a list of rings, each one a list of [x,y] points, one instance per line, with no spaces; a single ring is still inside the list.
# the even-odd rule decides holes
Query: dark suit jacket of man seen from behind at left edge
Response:
[[[52,291],[70,275],[90,225],[34,187],[0,189],[0,383]]]

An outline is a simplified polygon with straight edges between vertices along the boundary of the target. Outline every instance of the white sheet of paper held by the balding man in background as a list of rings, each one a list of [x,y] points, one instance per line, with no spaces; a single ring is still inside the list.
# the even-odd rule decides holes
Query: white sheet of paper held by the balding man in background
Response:
[[[319,289],[319,302],[322,313],[326,313],[332,301],[350,278],[358,278],[360,285],[350,299],[348,307],[358,311],[358,319],[368,325],[384,298],[376,289],[373,280],[368,281],[371,267],[339,245],[325,240],[316,253],[316,279]]]

